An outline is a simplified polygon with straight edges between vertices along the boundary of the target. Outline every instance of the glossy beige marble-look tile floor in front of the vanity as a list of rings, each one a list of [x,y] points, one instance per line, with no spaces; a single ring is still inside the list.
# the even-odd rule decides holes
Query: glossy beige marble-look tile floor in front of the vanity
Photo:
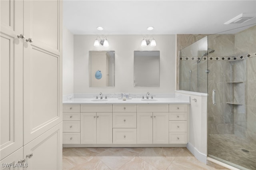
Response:
[[[216,170],[187,148],[63,148],[64,170]]]

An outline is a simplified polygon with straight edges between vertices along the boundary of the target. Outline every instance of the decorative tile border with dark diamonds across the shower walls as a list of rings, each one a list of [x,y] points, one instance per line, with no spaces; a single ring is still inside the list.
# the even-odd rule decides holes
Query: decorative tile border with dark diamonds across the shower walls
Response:
[[[248,58],[252,58],[252,57],[256,57],[256,53],[249,53],[249,54],[245,54],[245,55],[241,55],[241,56],[236,56],[236,57],[210,57],[209,60],[220,60],[220,61],[231,61],[231,60],[242,60],[242,59],[248,59]],[[180,57],[181,61],[197,61],[199,60],[200,57]],[[202,60],[206,60],[207,57],[203,57]]]

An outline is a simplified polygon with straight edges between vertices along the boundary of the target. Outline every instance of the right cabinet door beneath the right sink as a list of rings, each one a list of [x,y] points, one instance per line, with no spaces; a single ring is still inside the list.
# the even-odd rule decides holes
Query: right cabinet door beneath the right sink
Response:
[[[153,143],[169,143],[169,113],[153,113]]]

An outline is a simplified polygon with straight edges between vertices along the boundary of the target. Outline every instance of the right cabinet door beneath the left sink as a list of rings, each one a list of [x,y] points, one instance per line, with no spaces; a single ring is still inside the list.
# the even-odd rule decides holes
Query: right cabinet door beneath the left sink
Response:
[[[112,113],[97,113],[97,144],[111,144],[112,140]]]

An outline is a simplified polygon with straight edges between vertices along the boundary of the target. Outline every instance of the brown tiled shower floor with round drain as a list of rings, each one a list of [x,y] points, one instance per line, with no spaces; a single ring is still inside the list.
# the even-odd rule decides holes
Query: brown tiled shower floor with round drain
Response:
[[[243,152],[242,149],[248,150],[249,153]],[[213,158],[217,157],[232,164],[256,170],[256,142],[248,142],[234,134],[209,134],[208,156],[211,157],[211,155]]]

